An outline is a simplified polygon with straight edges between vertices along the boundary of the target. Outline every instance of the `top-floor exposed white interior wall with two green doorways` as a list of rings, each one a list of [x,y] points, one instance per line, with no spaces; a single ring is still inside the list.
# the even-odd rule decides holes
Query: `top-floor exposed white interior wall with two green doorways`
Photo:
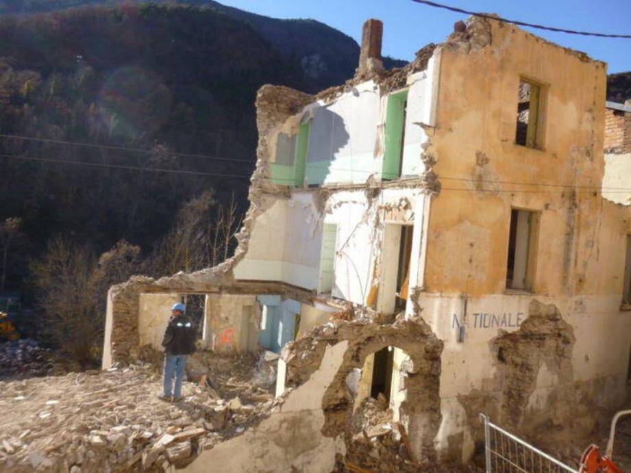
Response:
[[[396,179],[399,171],[421,175],[419,146],[427,141],[421,124],[430,123],[433,83],[426,71],[406,79],[399,90],[360,82],[290,117],[277,136],[275,182],[301,188]]]

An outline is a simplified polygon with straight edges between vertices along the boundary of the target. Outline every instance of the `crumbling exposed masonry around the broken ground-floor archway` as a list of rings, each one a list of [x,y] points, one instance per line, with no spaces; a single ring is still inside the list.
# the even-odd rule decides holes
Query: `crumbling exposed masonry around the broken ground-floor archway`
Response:
[[[356,402],[347,385],[347,376],[352,370],[362,368],[372,353],[386,346],[396,346],[407,355],[401,370],[393,373],[399,378],[396,393],[401,398],[396,407],[399,420],[406,426],[417,458],[435,459],[434,437],[441,420],[438,379],[443,343],[419,317],[406,319],[400,316],[392,323],[379,323],[367,318],[367,314],[356,315],[360,318],[351,321],[336,319],[315,327],[308,335],[284,348],[285,388],[291,392],[294,387],[304,385],[310,376],[321,370],[327,347],[347,342],[334,378],[318,396],[325,418],[322,435],[341,437],[348,446]]]

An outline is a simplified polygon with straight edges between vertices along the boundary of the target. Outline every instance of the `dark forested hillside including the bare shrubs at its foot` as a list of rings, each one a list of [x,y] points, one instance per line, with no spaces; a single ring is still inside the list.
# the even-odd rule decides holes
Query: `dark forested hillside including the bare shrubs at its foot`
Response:
[[[0,13],[0,297],[21,292],[36,309],[21,329],[85,365],[110,285],[230,255],[258,88],[341,84],[359,47],[214,2],[9,0]]]

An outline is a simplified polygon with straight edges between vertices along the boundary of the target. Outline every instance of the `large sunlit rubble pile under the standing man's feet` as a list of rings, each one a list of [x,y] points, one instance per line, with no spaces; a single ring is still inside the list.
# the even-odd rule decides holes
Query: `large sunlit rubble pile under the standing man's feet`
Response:
[[[177,402],[158,398],[162,380],[149,363],[0,382],[0,471],[160,472],[186,465],[275,405],[270,389],[245,379],[252,365],[230,357],[218,364],[223,370],[215,379],[211,373],[201,384],[185,382]]]

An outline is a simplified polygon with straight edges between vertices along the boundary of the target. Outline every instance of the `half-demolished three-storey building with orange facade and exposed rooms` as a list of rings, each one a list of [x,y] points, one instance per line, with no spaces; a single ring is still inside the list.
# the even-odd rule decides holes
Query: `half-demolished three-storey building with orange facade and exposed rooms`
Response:
[[[258,92],[234,257],[108,294],[103,368],[158,349],[182,294],[206,296],[208,348],[282,348],[279,405],[190,471],[330,471],[369,397],[410,458],[466,463],[480,412],[562,440],[626,396],[631,186],[624,153],[606,171],[606,64],[474,17],[384,71],[381,32],[364,25],[343,86]]]

